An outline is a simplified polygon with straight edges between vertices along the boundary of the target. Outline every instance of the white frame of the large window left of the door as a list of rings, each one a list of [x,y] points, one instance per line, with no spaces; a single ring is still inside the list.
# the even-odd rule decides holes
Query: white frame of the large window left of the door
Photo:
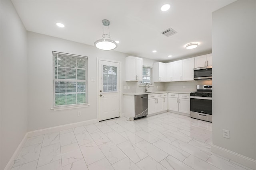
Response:
[[[65,79],[62,79],[62,78],[55,78],[55,56],[54,55],[65,55],[66,57],[74,57],[76,59],[81,59],[81,58],[84,58],[85,59],[85,63],[84,63],[84,66],[85,66],[85,80],[83,79],[77,79],[77,76],[76,75],[76,79],[67,79],[67,73],[65,73]],[[52,51],[52,64],[53,64],[53,107],[52,109],[54,110],[63,110],[63,109],[72,109],[72,108],[80,108],[80,107],[88,107],[89,104],[88,104],[88,57],[86,56],[82,56],[82,55],[74,55],[74,54],[69,54],[69,53],[61,53],[61,52],[57,52],[57,51]],[[58,66],[57,66],[58,67]],[[63,67],[62,67],[63,68]],[[69,67],[67,67],[67,65],[65,65],[65,69],[67,69]],[[78,68],[76,68],[76,74],[77,74],[77,70],[79,70]],[[55,82],[56,81],[59,81],[59,82],[84,82],[85,83],[85,103],[81,103],[81,104],[65,104],[65,105],[56,105],[56,87],[55,87]],[[67,86],[67,84],[65,85],[65,87]],[[67,88],[67,87],[66,87]],[[73,94],[74,92],[70,92],[70,94]],[[66,92],[65,91],[65,97],[67,94],[69,94],[69,92]],[[77,86],[76,86],[76,92],[75,94],[78,94],[78,91],[77,91]],[[77,100],[77,95],[76,95],[76,100]]]

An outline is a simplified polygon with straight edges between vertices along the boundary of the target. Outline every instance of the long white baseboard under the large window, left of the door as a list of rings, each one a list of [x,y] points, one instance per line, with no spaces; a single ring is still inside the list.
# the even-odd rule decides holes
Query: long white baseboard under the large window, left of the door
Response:
[[[80,122],[77,122],[77,123],[70,123],[70,124],[66,124],[66,125],[49,127],[49,128],[46,128],[46,129],[39,129],[39,130],[36,130],[36,131],[28,132],[28,137],[44,135],[46,133],[54,133],[54,132],[57,132],[57,131],[62,131],[62,130],[65,130],[65,129],[70,129],[70,128],[74,128],[74,127],[89,125],[89,124],[97,123],[97,122],[98,122],[97,119],[91,119],[91,120],[87,120],[87,121],[80,121]]]

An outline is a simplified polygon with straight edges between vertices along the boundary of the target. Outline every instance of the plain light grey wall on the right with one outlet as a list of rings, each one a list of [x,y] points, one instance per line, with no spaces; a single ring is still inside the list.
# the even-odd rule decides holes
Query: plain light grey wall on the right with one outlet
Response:
[[[256,1],[212,16],[213,145],[256,160]],[[230,139],[222,137],[230,130]]]

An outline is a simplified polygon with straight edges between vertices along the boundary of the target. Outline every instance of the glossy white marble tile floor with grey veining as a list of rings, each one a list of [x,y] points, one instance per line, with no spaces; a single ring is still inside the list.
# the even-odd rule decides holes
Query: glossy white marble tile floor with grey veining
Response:
[[[30,137],[11,170],[250,170],[211,152],[212,123],[175,113]]]

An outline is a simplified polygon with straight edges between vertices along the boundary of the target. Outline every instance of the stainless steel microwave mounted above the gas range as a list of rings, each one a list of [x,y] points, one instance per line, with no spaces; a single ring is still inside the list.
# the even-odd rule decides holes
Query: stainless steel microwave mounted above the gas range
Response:
[[[212,66],[194,68],[194,80],[212,79]]]

